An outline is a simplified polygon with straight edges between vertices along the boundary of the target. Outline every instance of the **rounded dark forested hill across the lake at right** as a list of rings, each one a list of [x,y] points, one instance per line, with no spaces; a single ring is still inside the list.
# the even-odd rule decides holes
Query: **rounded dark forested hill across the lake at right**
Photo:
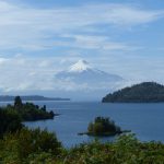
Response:
[[[164,102],[164,85],[143,82],[106,95],[103,103],[159,103]]]

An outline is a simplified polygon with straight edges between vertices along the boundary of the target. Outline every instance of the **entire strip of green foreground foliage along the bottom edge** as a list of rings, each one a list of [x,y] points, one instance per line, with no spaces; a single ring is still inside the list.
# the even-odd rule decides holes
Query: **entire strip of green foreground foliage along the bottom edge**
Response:
[[[65,149],[47,131],[23,129],[0,140],[4,164],[164,164],[164,144],[121,136],[115,142],[93,141]]]

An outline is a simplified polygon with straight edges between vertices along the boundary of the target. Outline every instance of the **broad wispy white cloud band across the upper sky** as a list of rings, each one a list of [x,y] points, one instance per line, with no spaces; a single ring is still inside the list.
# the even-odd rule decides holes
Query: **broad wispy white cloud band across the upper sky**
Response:
[[[49,49],[54,45],[65,46],[65,42],[55,42],[51,36],[87,31],[95,24],[133,26],[153,22],[163,16],[163,11],[143,10],[129,4],[84,4],[72,8],[34,9],[0,0],[0,49],[20,48],[26,50]],[[77,47],[82,43],[77,37]],[[71,43],[71,42],[70,42]],[[97,43],[85,44],[85,48],[97,47]],[[67,44],[66,44],[67,46]],[[127,46],[108,43],[107,49],[122,49]],[[105,48],[104,47],[104,48]],[[84,48],[84,46],[83,46]]]

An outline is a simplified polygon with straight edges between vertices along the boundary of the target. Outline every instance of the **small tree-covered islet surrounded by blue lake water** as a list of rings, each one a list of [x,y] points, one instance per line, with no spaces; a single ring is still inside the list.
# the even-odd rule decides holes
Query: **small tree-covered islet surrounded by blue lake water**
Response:
[[[115,121],[110,120],[108,117],[96,117],[94,122],[90,122],[87,127],[87,132],[79,134],[87,134],[93,137],[109,137],[115,134],[120,134],[124,131],[120,127],[115,125]]]

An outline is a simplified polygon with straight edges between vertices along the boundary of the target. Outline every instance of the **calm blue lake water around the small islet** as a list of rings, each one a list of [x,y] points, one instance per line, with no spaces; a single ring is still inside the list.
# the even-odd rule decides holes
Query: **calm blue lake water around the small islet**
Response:
[[[131,130],[141,141],[164,141],[164,104],[102,104],[96,102],[34,102],[61,114],[52,120],[25,122],[30,128],[47,128],[56,132],[67,148],[93,140],[78,136],[84,132],[96,116],[110,117],[121,129]],[[5,103],[1,103],[5,105]],[[114,138],[102,138],[102,141]]]

